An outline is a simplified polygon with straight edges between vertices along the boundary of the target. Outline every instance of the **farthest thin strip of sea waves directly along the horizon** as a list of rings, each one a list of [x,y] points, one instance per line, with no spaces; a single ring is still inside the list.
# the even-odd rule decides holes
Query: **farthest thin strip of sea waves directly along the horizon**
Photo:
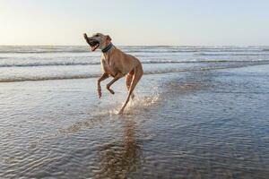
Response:
[[[126,53],[265,52],[268,47],[117,46]],[[87,46],[0,46],[0,54],[87,53]]]

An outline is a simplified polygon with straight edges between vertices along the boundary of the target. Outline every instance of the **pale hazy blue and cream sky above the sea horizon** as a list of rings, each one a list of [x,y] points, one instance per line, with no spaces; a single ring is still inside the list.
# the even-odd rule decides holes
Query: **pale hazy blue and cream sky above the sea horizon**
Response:
[[[0,0],[0,45],[268,46],[268,0]]]

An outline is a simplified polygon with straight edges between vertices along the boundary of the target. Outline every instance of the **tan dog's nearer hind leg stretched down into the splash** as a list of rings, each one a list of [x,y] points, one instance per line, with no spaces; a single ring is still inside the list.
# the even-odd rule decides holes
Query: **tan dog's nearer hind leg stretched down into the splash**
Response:
[[[132,93],[134,92],[134,88],[135,88],[137,82],[141,79],[142,75],[143,75],[142,64],[138,64],[138,65],[135,66],[135,68],[134,68],[134,77],[133,77],[133,80],[132,80],[132,82],[131,82],[131,86],[130,86],[130,88],[129,88],[129,92],[128,92],[128,96],[127,96],[127,98],[126,98],[126,102],[125,102],[125,104],[121,107],[121,109],[120,109],[120,111],[118,112],[118,114],[122,114],[123,111],[125,110],[126,105],[127,105],[127,103],[129,102]]]

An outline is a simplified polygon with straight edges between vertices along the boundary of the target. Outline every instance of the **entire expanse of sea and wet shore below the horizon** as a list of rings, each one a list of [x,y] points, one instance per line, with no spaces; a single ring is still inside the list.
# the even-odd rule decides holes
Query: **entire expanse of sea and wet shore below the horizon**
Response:
[[[0,178],[267,178],[268,47],[120,47],[143,64],[124,115],[100,53],[0,48]]]

